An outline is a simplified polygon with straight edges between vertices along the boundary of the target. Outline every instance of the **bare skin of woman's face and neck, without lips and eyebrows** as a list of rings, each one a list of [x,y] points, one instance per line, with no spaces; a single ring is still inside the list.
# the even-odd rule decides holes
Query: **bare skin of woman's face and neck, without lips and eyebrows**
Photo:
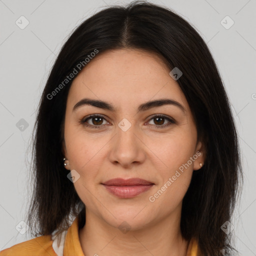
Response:
[[[98,53],[72,82],[63,153],[69,162],[65,167],[80,175],[73,184],[86,205],[86,224],[79,230],[85,255],[186,255],[189,241],[180,232],[181,204],[205,154],[186,98],[169,71],[155,53],[126,48]],[[116,110],[83,105],[72,111],[85,97],[107,101]],[[185,112],[166,104],[137,113],[139,104],[160,98],[178,101]],[[100,128],[80,123],[90,114],[103,115]],[[176,122],[162,119],[158,124],[157,114]],[[123,118],[131,124],[126,131],[118,126]],[[87,124],[96,126],[97,121],[90,118]],[[150,202],[149,196],[198,150],[200,156]],[[101,184],[116,177],[139,177],[154,185],[133,198],[119,198]],[[118,228],[123,221],[130,226],[126,233]]]

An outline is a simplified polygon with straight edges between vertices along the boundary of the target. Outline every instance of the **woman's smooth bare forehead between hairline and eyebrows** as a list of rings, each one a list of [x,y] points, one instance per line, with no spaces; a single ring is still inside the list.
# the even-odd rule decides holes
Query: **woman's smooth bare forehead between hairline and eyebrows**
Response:
[[[131,105],[160,97],[187,102],[170,69],[156,53],[138,49],[108,50],[92,58],[72,82],[69,101],[83,97]]]

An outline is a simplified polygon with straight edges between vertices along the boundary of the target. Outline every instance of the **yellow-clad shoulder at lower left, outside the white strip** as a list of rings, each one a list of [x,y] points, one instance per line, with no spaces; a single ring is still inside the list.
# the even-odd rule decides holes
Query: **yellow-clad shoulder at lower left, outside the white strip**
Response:
[[[51,235],[41,235],[30,240],[17,243],[0,251],[0,256],[57,256],[52,248]]]

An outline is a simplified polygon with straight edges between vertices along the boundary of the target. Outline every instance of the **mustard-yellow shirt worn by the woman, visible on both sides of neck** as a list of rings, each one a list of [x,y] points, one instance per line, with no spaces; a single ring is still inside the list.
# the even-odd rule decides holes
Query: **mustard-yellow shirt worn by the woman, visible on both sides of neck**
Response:
[[[54,240],[54,239],[53,239]],[[65,232],[62,240],[63,247],[60,245],[60,253],[56,253],[57,248],[53,243],[52,235],[41,235],[15,244],[9,248],[0,251],[0,256],[84,256],[78,236],[78,217],[76,217],[71,226]],[[56,251],[55,251],[55,250]],[[195,239],[191,239],[188,245],[186,256],[200,256],[201,253],[197,247]]]

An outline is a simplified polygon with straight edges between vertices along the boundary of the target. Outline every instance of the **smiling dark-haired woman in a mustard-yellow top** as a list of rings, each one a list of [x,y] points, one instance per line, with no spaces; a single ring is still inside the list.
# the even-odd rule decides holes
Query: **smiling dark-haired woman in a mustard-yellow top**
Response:
[[[37,237],[0,255],[232,253],[229,102],[205,42],[167,8],[108,7],[75,29],[41,97],[34,169]]]

